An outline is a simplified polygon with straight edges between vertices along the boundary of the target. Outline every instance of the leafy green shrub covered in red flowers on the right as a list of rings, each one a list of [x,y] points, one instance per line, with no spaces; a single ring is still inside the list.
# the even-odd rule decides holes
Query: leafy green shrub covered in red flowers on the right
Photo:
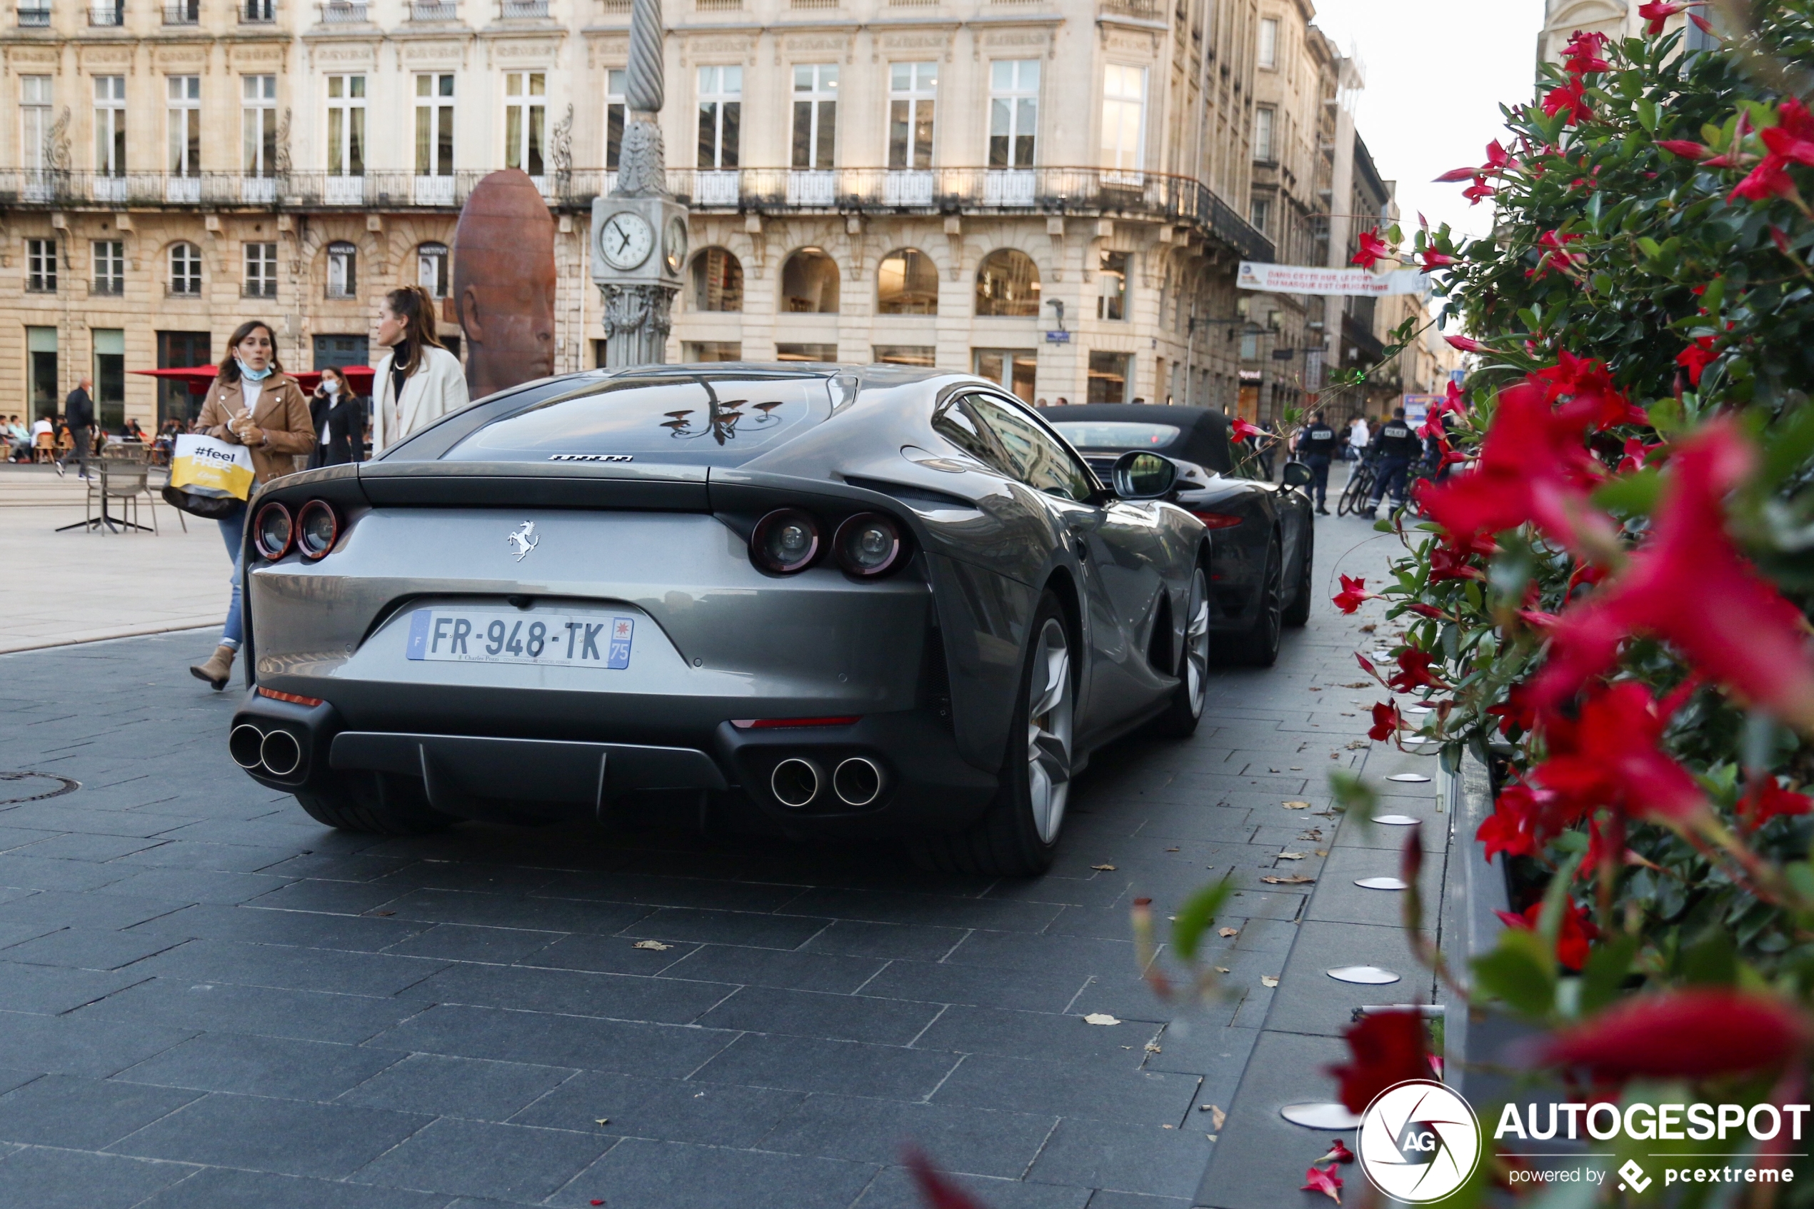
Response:
[[[1382,522],[1409,556],[1335,604],[1402,618],[1397,667],[1362,665],[1497,774],[1477,839],[1515,901],[1457,990],[1602,1095],[1781,1102],[1814,1039],[1814,0],[1756,0],[1698,54],[1662,34],[1683,11],[1707,27],[1654,2],[1643,36],[1575,34],[1442,178],[1491,237],[1360,241],[1429,268],[1477,355],[1444,406],[1473,466]],[[1409,725],[1393,696],[1373,723]],[[1353,1030],[1342,1098],[1408,1044]]]

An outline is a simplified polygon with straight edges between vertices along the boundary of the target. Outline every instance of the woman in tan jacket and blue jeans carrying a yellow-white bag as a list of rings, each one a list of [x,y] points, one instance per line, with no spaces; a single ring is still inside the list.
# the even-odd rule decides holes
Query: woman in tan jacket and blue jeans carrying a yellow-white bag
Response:
[[[229,357],[209,386],[207,402],[196,417],[196,431],[227,444],[243,444],[252,451],[252,498],[258,488],[296,469],[296,455],[316,446],[316,426],[308,419],[308,401],[294,377],[278,361],[278,339],[268,323],[252,319],[234,328],[227,341]],[[245,544],[247,508],[221,517],[221,540],[232,556],[232,600],[227,605],[227,625],[221,643],[207,663],[189,671],[207,680],[216,691],[227,687],[234,654],[239,651],[243,625],[239,622],[239,551]]]

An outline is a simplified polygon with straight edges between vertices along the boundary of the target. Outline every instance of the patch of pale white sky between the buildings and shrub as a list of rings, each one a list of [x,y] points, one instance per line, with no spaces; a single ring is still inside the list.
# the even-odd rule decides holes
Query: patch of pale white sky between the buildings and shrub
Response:
[[[1366,69],[1360,138],[1380,176],[1399,181],[1406,234],[1422,210],[1431,227],[1484,236],[1491,203],[1469,207],[1466,183],[1431,178],[1482,163],[1504,129],[1500,102],[1531,100],[1544,0],[1313,2],[1322,33]]]

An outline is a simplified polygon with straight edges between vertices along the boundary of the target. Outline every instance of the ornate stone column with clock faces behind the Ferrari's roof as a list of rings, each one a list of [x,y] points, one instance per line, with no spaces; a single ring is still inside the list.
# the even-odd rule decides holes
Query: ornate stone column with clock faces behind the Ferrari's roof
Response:
[[[662,111],[660,0],[635,0],[629,18],[629,121],[617,189],[591,201],[591,279],[604,295],[606,364],[668,361],[669,315],[686,270],[686,207],[668,192],[657,118]]]

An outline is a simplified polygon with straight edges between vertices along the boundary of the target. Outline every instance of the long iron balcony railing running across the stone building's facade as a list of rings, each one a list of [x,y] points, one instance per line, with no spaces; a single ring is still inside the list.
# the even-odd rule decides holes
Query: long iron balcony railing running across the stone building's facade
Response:
[[[7,205],[219,205],[457,208],[484,169],[415,172],[44,172],[0,169]],[[615,172],[582,169],[535,178],[550,201],[584,205],[615,185]],[[695,210],[756,214],[1025,214],[1194,225],[1243,259],[1270,261],[1273,245],[1206,185],[1186,176],[1110,169],[669,169],[668,189]]]

